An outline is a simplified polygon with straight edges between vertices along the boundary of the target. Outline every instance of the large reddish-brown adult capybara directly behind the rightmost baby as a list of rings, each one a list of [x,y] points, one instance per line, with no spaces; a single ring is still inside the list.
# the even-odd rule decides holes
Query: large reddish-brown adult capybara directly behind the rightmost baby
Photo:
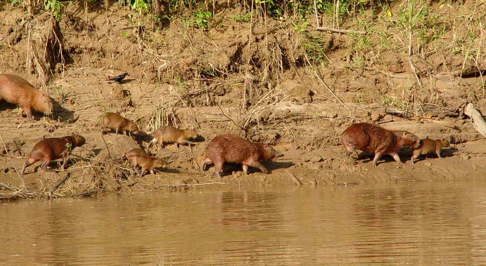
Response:
[[[346,146],[346,155],[354,153],[358,156],[356,149],[375,153],[374,166],[383,154],[389,154],[401,163],[399,149],[404,146],[416,148],[420,144],[420,139],[408,131],[387,130],[369,123],[352,124],[341,134],[341,140]]]

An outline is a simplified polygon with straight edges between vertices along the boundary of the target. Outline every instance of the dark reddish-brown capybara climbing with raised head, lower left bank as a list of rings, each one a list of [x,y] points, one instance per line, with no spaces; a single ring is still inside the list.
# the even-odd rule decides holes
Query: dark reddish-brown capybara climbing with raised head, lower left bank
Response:
[[[83,136],[72,133],[70,136],[62,138],[49,138],[37,142],[32,148],[29,159],[24,163],[22,168],[22,175],[25,173],[25,168],[29,167],[36,161],[42,161],[40,168],[46,172],[54,172],[47,168],[52,160],[62,158],[62,169],[66,167],[68,156],[75,147],[80,147],[86,142]]]

